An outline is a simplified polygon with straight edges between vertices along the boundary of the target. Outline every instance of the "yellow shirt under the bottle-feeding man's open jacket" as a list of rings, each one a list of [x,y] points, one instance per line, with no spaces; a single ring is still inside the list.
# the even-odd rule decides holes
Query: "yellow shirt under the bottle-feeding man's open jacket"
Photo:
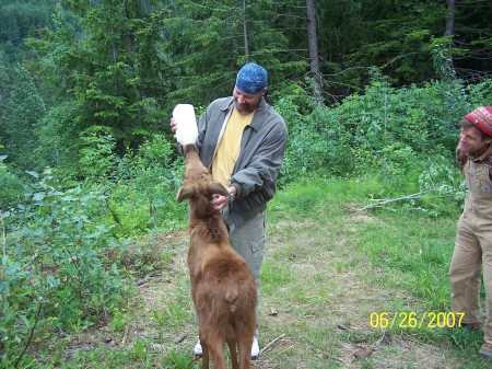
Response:
[[[241,139],[244,128],[251,123],[255,112],[241,115],[233,108],[225,131],[222,135],[215,157],[212,160],[212,178],[229,187],[232,171],[239,154]]]

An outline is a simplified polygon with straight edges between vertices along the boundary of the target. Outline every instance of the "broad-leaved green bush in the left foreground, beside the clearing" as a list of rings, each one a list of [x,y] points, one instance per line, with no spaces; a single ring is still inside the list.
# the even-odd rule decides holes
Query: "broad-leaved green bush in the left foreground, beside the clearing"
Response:
[[[2,214],[2,357],[21,358],[36,328],[83,330],[106,320],[127,290],[108,254],[118,247],[104,217],[105,197],[80,187],[57,189],[49,170],[27,188],[26,201]]]

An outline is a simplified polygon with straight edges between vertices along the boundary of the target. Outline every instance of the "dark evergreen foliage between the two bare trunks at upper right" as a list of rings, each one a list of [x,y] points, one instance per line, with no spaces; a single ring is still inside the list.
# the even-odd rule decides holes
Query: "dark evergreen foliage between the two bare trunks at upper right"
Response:
[[[433,74],[429,47],[436,35],[442,37],[446,9],[430,1],[336,1],[325,12],[330,22],[323,37],[330,39],[329,49],[337,54],[323,57],[336,62],[337,77],[353,85],[367,83],[370,67],[376,66],[396,84],[429,80]],[[326,67],[325,67],[326,70]],[[340,72],[343,72],[340,74]],[[341,90],[343,95],[351,90]]]

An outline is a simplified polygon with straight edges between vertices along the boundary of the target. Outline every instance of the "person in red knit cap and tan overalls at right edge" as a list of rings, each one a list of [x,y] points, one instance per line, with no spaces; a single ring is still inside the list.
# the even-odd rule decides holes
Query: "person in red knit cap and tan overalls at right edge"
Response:
[[[452,309],[465,313],[462,324],[480,330],[480,276],[487,296],[484,343],[479,355],[492,358],[492,106],[482,106],[460,122],[456,155],[468,194],[458,220],[449,267]]]

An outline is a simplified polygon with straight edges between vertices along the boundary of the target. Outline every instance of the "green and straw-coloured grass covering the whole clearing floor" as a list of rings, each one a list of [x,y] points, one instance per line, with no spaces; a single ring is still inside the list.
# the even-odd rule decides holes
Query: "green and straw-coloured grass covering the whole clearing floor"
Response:
[[[374,314],[400,323],[398,313],[449,312],[460,212],[430,217],[405,204],[358,210],[374,196],[405,195],[383,189],[376,181],[306,181],[271,201],[259,316],[260,347],[271,346],[254,368],[489,367],[477,357],[482,332],[371,326]],[[186,230],[157,240],[162,260],[141,276],[128,309],[107,326],[37,345],[30,368],[200,368],[190,355],[197,328]],[[155,242],[142,243],[143,254],[147,244],[155,257]]]

